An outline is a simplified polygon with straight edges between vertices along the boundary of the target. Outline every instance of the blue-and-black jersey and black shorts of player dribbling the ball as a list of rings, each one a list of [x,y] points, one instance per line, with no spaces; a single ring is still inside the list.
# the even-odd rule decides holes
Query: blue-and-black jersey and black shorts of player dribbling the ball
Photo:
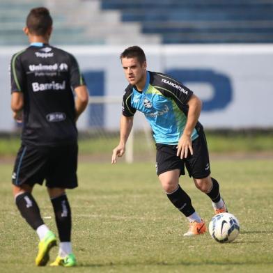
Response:
[[[180,169],[189,176],[205,178],[210,175],[210,161],[205,134],[201,123],[196,123],[192,132],[194,155],[180,159],[176,155],[177,144],[187,123],[187,102],[193,92],[168,75],[147,72],[146,85],[142,92],[129,85],[123,95],[123,115],[134,116],[141,111],[150,123],[156,142],[157,175]]]

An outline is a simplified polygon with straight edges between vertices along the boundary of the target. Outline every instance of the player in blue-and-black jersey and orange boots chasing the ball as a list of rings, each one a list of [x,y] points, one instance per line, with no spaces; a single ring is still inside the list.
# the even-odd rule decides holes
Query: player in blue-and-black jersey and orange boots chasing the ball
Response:
[[[179,185],[180,175],[185,175],[185,166],[196,187],[212,200],[214,213],[227,212],[227,208],[219,192],[219,183],[210,176],[205,133],[198,122],[202,102],[180,81],[148,71],[146,56],[140,47],[128,47],[120,60],[129,85],[123,95],[120,141],[113,150],[111,163],[115,164],[117,157],[125,153],[134,114],[141,111],[153,130],[156,170],[162,188],[171,203],[189,220],[189,231],[184,235],[203,234],[205,222]]]

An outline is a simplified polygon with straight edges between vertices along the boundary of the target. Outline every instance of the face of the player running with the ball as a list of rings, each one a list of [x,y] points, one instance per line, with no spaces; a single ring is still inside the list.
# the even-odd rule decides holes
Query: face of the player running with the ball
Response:
[[[123,65],[123,71],[125,77],[130,84],[138,86],[142,85],[146,81],[146,61],[144,63],[139,63],[137,57],[135,58],[123,58],[121,60]]]

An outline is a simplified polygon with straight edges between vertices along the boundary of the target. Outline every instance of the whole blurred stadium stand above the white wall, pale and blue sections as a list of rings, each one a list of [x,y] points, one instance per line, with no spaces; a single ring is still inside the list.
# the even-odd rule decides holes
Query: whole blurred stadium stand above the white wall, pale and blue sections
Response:
[[[273,0],[1,0],[0,45],[26,45],[30,8],[54,16],[55,45],[273,42]]]

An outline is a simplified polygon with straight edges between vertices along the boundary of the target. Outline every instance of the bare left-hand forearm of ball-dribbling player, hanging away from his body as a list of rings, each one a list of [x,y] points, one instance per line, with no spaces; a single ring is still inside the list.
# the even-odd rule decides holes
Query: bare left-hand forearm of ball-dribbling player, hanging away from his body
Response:
[[[116,163],[116,157],[122,157],[124,155],[126,142],[133,127],[133,120],[134,120],[133,116],[130,116],[130,117],[123,116],[123,115],[121,116],[120,142],[118,143],[118,146],[116,146],[116,148],[114,148],[113,150],[111,164]]]

